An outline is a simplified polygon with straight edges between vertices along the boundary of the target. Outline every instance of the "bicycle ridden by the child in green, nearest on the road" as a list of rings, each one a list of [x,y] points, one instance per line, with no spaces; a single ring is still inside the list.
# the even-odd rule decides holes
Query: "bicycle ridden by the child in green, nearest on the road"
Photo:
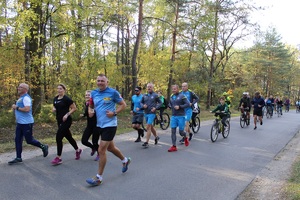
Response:
[[[223,138],[227,138],[229,135],[229,132],[230,132],[229,118],[226,119],[225,123],[227,124],[227,126],[224,127],[224,125],[221,122],[221,117],[220,117],[221,114],[224,114],[224,113],[222,113],[222,112],[215,113],[216,119],[214,120],[213,125],[211,127],[211,131],[210,131],[210,139],[212,142],[217,141],[219,133],[222,133]]]

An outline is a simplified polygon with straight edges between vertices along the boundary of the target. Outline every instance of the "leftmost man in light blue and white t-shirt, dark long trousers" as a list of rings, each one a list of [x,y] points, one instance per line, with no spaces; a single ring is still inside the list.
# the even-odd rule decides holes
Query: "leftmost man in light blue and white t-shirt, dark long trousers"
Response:
[[[22,143],[23,137],[27,144],[39,147],[43,151],[44,157],[48,155],[48,145],[40,143],[32,136],[32,128],[34,119],[32,116],[32,99],[27,93],[29,86],[26,83],[21,83],[18,87],[18,94],[20,98],[16,104],[12,105],[12,109],[15,111],[16,116],[16,132],[15,132],[15,145],[17,157],[9,161],[8,164],[22,163]]]

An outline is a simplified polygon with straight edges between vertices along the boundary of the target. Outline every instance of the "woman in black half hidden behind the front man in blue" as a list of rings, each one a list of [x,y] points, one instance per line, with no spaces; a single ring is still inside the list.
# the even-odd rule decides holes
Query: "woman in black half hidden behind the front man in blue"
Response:
[[[91,156],[95,154],[95,152],[98,152],[98,140],[99,140],[99,134],[95,131],[96,129],[96,124],[97,124],[97,118],[96,115],[93,115],[93,117],[89,117],[88,114],[88,108],[89,108],[89,100],[91,97],[91,90],[87,90],[85,92],[85,111],[84,114],[81,114],[81,116],[87,118],[87,126],[83,132],[82,138],[81,138],[81,143],[87,147],[91,148]],[[89,142],[89,138],[92,135],[92,143]],[[95,158],[95,161],[99,160],[99,155],[97,153],[97,156]]]

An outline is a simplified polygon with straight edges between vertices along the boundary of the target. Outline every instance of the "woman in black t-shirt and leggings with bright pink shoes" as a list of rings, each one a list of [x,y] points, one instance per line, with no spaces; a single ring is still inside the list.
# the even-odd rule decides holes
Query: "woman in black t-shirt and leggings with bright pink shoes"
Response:
[[[57,86],[58,95],[53,100],[53,112],[56,112],[56,121],[58,130],[56,133],[57,156],[52,160],[53,165],[62,163],[61,154],[63,149],[63,138],[65,137],[76,150],[75,159],[80,159],[81,149],[78,148],[76,141],[72,137],[70,127],[72,124],[71,114],[76,111],[76,105],[72,99],[65,95],[66,86],[59,84]],[[71,110],[70,110],[71,109]]]

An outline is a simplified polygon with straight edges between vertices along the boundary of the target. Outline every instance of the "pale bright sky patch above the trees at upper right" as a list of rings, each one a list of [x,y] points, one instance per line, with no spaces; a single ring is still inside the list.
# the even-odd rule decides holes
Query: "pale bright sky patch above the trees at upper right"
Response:
[[[253,13],[252,22],[257,22],[262,31],[272,26],[282,37],[282,42],[300,45],[300,0],[253,0],[265,10]]]

